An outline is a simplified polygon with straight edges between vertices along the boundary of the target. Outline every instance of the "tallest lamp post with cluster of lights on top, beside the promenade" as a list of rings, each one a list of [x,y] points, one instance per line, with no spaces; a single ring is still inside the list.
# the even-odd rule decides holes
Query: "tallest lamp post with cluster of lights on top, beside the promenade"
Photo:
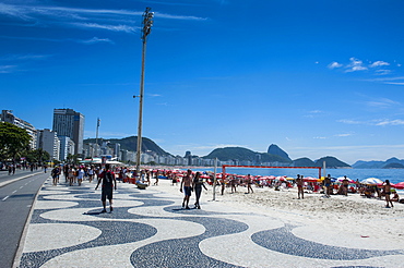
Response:
[[[142,29],[142,72],[140,76],[140,96],[139,96],[139,126],[138,126],[138,149],[136,149],[136,173],[140,174],[140,158],[142,154],[142,118],[143,118],[143,93],[144,93],[144,62],[146,58],[146,42],[153,26],[154,13],[150,12],[151,8],[146,8],[143,13],[143,29]]]

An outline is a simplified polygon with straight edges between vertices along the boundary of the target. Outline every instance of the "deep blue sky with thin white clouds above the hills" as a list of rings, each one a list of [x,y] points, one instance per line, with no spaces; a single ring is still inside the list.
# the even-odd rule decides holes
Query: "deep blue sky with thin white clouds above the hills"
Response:
[[[146,7],[143,136],[166,151],[404,158],[401,0],[2,0],[1,108],[37,129],[71,108],[85,137],[98,117],[100,137],[136,135]]]

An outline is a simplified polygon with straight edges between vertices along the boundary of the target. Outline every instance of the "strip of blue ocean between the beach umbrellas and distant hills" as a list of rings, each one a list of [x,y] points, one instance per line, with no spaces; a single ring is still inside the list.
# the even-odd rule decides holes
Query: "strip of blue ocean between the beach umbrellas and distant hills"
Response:
[[[213,171],[212,168],[194,168],[195,171]],[[217,167],[217,173],[222,172],[222,167]],[[304,176],[319,176],[318,169],[246,169],[246,168],[226,168],[226,173],[235,173],[240,175],[287,175],[296,178],[297,174]],[[346,175],[352,180],[364,180],[367,178],[378,178],[382,181],[389,180],[391,183],[399,183],[404,181],[404,169],[326,169],[326,174],[332,178]],[[323,175],[323,171],[321,173]]]

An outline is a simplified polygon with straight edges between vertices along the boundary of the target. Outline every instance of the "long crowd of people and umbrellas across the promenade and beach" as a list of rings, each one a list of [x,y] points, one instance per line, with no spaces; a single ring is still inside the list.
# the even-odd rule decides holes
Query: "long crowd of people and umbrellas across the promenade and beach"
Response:
[[[102,182],[103,173],[108,169],[102,169],[99,166],[74,166],[66,165],[62,167],[55,167],[51,171],[54,185],[59,183],[61,174],[64,175],[66,183],[70,186],[82,185],[84,180],[90,183],[96,180],[98,184]],[[120,182],[128,182],[130,178],[134,178],[138,183],[143,183],[145,186],[158,185],[159,179],[167,179],[171,185],[180,183],[180,192],[183,193],[182,207],[189,209],[190,197],[192,192],[195,194],[194,207],[200,209],[200,196],[202,188],[206,188],[205,183],[213,185],[214,175],[209,172],[193,172],[192,170],[180,171],[170,169],[142,169],[138,174],[135,169],[129,167],[115,167],[110,169],[114,174],[114,180]],[[216,185],[219,186],[221,194],[223,195],[228,187],[230,193],[236,193],[239,187],[246,194],[253,194],[253,186],[256,187],[273,187],[275,191],[297,188],[297,197],[305,198],[305,193],[320,193],[323,197],[331,197],[332,195],[347,195],[348,193],[359,193],[368,198],[384,198],[387,207],[393,207],[394,202],[404,203],[394,188],[391,187],[390,182],[387,180],[382,185],[365,185],[359,182],[353,183],[346,176],[344,180],[335,182],[331,175],[323,178],[322,181],[308,181],[301,174],[297,174],[296,179],[293,178],[277,178],[262,180],[260,176],[237,175],[237,174],[217,174]],[[153,181],[152,181],[153,180]],[[104,182],[103,182],[104,183]],[[115,183],[116,185],[116,183]],[[392,196],[391,196],[392,195]],[[104,197],[103,197],[104,198]],[[103,200],[104,205],[105,198]],[[105,207],[105,205],[104,205]],[[105,209],[104,209],[105,210]]]

